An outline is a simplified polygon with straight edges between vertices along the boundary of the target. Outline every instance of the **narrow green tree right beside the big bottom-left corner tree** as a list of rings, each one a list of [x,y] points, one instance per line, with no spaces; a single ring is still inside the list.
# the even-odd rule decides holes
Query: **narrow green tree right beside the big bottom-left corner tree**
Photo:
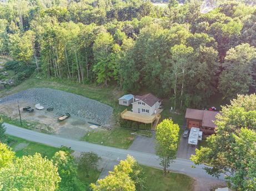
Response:
[[[58,151],[52,158],[53,164],[58,168],[59,177],[59,191],[78,191],[76,184],[77,169],[74,164],[74,157],[68,152]]]

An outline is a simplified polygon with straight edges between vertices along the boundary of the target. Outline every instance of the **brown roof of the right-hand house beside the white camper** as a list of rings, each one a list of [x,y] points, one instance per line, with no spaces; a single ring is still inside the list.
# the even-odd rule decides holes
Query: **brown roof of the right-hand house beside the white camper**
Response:
[[[218,111],[209,110],[196,110],[187,108],[185,118],[191,118],[194,120],[202,120],[203,127],[216,127],[213,121],[216,120],[216,115],[220,113]]]

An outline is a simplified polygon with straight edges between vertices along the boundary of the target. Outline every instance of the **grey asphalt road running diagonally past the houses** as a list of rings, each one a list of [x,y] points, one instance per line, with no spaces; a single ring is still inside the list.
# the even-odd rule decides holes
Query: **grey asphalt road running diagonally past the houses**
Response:
[[[84,141],[70,140],[68,138],[57,137],[54,135],[47,135],[44,133],[39,133],[25,128],[20,128],[17,126],[4,123],[6,127],[6,133],[8,135],[24,138],[28,141],[39,142],[43,144],[48,144],[49,146],[61,147],[62,145],[71,146],[74,151],[79,152],[89,152],[93,151],[101,157],[108,157],[113,160],[123,160],[126,159],[127,154],[133,156],[138,163],[144,164],[146,166],[151,166],[155,168],[162,168],[159,165],[158,156],[152,153],[138,152],[114,147],[102,146],[99,144],[92,144]],[[194,163],[188,159],[177,158],[174,163],[170,164],[170,171],[184,173],[190,175],[194,178],[207,178],[211,180],[217,180],[217,178],[212,177],[207,174],[202,168],[203,165],[196,166],[192,168]],[[224,180],[220,177],[219,180]]]

